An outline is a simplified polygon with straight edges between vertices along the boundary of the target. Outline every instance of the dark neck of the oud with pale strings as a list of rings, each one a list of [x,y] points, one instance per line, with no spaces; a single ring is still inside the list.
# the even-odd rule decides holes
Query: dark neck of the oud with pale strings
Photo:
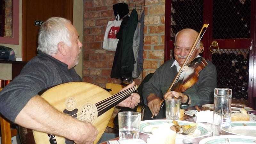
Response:
[[[110,96],[103,101],[96,103],[95,105],[98,110],[98,117],[111,108],[115,107],[118,103],[128,98],[135,91],[137,91],[137,86],[128,88],[120,93]]]

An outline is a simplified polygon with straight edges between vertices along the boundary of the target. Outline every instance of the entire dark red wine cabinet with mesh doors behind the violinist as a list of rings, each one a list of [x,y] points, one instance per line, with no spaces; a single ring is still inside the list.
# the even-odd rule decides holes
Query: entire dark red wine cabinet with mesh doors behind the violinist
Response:
[[[165,61],[173,58],[174,37],[179,30],[200,31],[209,23],[202,56],[217,68],[217,87],[231,88],[232,102],[248,99],[248,105],[255,108],[255,5],[252,0],[166,1]],[[218,47],[211,46],[213,41],[218,43],[217,52]]]

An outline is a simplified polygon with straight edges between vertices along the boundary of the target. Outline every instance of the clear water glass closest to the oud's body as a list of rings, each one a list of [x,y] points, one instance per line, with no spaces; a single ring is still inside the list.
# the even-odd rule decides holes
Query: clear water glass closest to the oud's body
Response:
[[[139,138],[140,118],[139,112],[124,111],[118,113],[119,140]]]

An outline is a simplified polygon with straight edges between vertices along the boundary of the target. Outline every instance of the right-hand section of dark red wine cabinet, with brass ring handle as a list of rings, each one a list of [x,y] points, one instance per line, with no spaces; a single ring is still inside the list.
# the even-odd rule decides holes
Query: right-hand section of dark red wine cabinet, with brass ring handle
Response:
[[[204,22],[212,24],[205,39],[205,57],[217,68],[217,87],[231,88],[232,102],[247,100],[255,109],[254,15],[255,1],[204,0]]]

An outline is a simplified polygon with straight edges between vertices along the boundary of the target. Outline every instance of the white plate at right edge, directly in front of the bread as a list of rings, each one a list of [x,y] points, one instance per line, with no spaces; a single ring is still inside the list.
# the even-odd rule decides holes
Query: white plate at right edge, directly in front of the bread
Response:
[[[256,122],[250,122],[250,121],[231,122],[230,131],[226,131],[226,132],[237,134],[237,135],[256,137]]]

